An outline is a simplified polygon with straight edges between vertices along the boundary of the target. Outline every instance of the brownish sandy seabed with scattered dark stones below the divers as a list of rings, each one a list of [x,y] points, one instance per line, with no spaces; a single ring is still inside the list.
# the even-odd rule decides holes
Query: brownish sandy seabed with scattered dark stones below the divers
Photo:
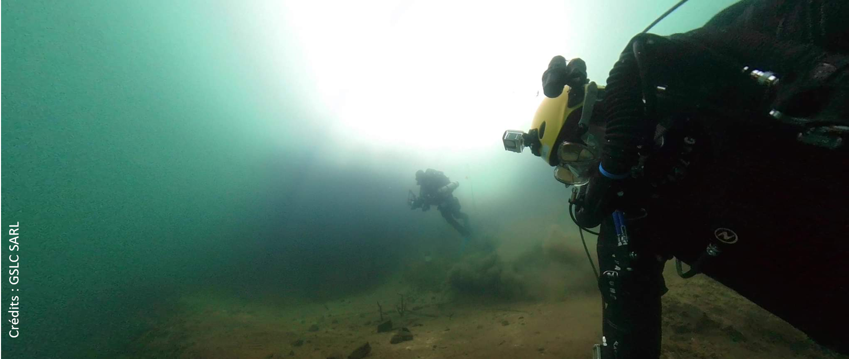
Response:
[[[730,289],[667,266],[664,359],[846,358]],[[396,311],[406,293],[407,311]],[[380,313],[395,330],[378,333]],[[131,357],[346,358],[368,343],[367,358],[582,358],[600,336],[599,297],[559,300],[452,300],[397,280],[323,303],[237,302],[215,294],[183,298],[181,310],[137,340]],[[398,328],[413,339],[391,344]]]

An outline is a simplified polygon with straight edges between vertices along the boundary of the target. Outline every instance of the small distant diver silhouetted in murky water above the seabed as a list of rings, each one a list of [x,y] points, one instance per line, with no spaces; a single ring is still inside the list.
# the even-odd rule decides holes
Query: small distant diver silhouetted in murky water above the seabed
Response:
[[[416,197],[412,190],[409,192],[407,202],[410,209],[425,211],[436,205],[442,218],[463,236],[464,242],[468,240],[471,235],[469,215],[460,211],[460,201],[453,195],[460,183],[451,182],[442,171],[428,168],[427,171],[416,171],[416,184],[419,185],[419,196]],[[457,220],[462,220],[463,224]]]

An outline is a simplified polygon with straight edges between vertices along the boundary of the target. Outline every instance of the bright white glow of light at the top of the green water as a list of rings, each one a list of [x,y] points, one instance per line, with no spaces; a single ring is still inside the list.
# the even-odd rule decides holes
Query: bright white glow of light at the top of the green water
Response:
[[[262,33],[295,34],[294,47],[256,41],[269,56],[298,53],[312,85],[302,91],[337,140],[450,152],[500,147],[505,129],[530,123],[540,71],[565,51],[542,34],[557,31],[552,13],[563,11],[563,2],[296,2],[252,16]]]

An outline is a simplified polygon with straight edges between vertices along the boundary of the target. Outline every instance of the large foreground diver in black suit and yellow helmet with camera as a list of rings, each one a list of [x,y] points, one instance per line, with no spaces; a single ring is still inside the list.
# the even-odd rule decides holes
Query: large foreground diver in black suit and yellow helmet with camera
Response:
[[[660,356],[673,256],[683,278],[704,273],[849,354],[847,12],[736,3],[694,31],[633,37],[606,88],[552,59],[531,130],[503,143],[554,166],[572,220],[600,225],[596,357]]]

